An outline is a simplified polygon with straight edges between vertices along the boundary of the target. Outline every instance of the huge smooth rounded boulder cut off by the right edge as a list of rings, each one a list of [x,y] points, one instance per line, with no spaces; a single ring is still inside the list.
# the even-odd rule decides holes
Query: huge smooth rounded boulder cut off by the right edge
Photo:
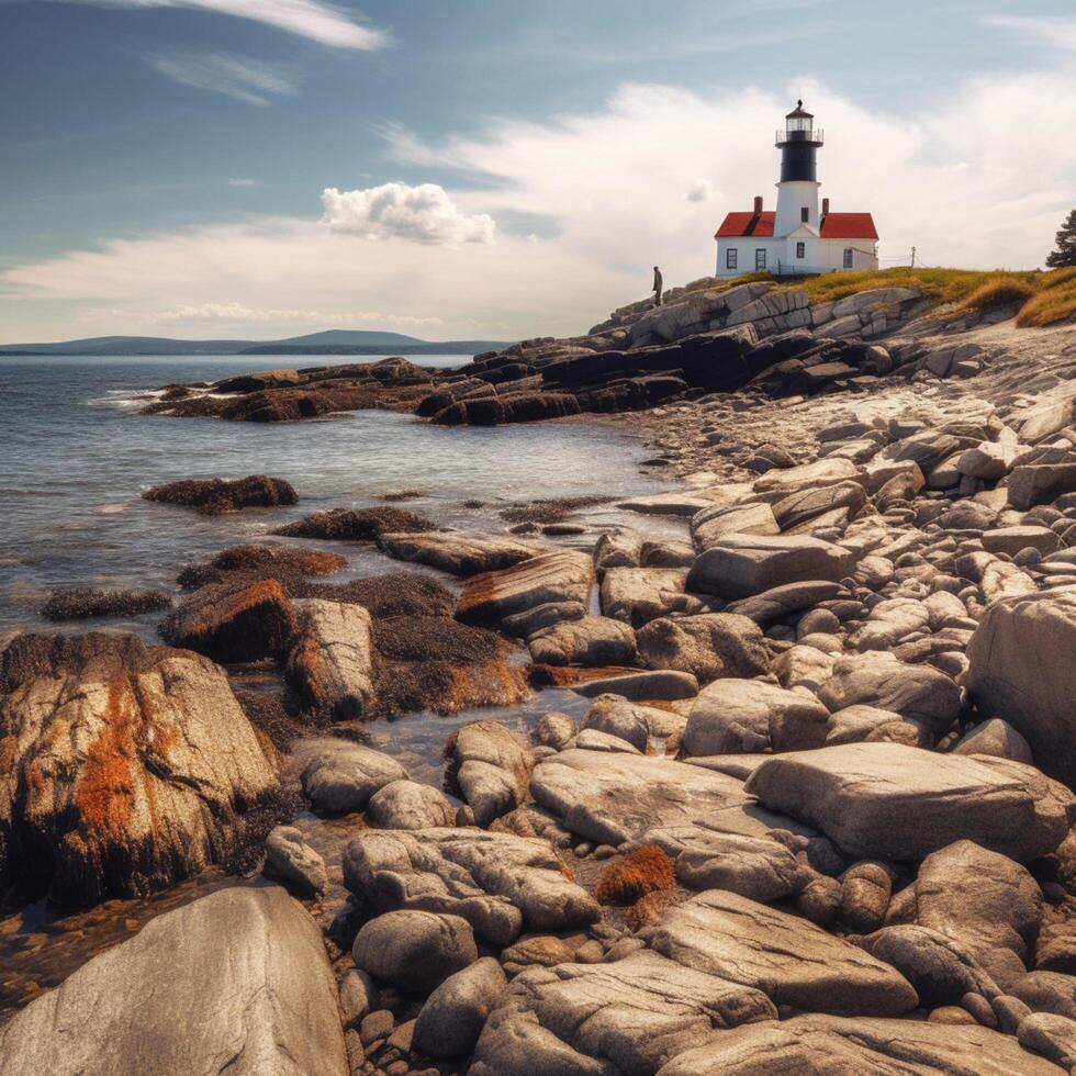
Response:
[[[1076,587],[996,602],[967,648],[968,691],[1031,744],[1035,762],[1076,785]]]

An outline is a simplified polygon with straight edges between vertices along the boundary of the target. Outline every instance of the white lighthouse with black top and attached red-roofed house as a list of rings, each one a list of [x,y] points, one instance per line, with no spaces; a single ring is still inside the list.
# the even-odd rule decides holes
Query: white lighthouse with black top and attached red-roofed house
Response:
[[[870,213],[830,213],[828,198],[819,212],[815,155],[823,133],[814,122],[803,101],[785,116],[776,137],[777,209],[764,210],[756,195],[753,210],[725,217],[714,236],[718,277],[760,269],[776,274],[878,268],[878,233]]]

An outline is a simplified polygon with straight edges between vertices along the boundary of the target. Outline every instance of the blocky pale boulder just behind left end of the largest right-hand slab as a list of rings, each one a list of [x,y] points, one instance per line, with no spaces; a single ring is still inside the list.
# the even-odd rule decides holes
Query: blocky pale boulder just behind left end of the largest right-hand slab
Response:
[[[684,729],[687,754],[798,751],[826,740],[829,710],[803,692],[754,680],[703,688]]]

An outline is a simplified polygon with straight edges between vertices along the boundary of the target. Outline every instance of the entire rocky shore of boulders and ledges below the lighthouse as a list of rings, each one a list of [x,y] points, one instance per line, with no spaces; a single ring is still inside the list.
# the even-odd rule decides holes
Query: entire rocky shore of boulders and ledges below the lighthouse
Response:
[[[236,884],[9,1013],[0,1069],[1076,1071],[1076,326],[1005,314],[699,287],[451,374],[168,388],[155,413],[601,413],[675,487],[615,527],[601,497],[497,533],[340,505],[177,564],[165,645],[5,640],[9,903]],[[250,491],[282,496],[167,500]],[[340,581],[356,543],[414,567]],[[578,705],[477,713],[440,787],[365,736],[550,685]]]

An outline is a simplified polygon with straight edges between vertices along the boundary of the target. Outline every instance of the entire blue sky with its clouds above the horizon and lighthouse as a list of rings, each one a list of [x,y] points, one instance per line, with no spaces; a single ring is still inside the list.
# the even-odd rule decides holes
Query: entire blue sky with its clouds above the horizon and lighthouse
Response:
[[[800,93],[883,258],[1041,265],[1074,70],[1072,0],[0,0],[0,340],[580,332]]]

